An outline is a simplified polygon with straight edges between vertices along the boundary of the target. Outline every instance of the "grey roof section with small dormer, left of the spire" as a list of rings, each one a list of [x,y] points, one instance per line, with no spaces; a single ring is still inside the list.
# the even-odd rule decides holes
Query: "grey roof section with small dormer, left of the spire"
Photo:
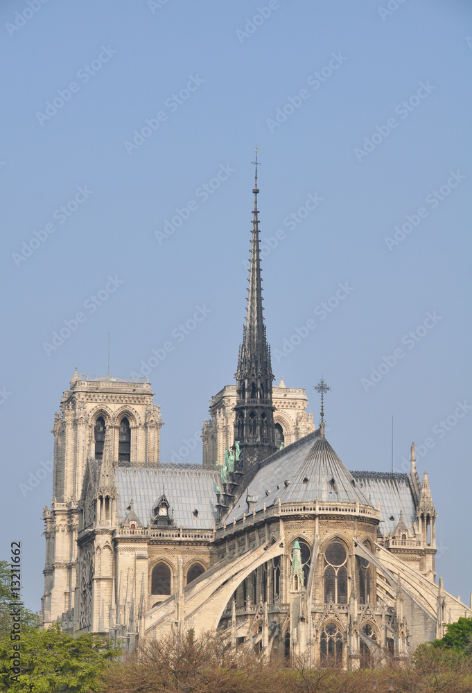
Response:
[[[188,467],[188,466],[187,466]],[[216,471],[185,468],[184,465],[159,466],[159,468],[122,467],[114,470],[115,486],[119,497],[117,513],[122,523],[128,515],[130,500],[134,500],[134,512],[141,525],[146,527],[152,510],[165,489],[166,498],[174,509],[176,527],[186,529],[211,529],[216,520]],[[198,510],[198,517],[193,514]]]

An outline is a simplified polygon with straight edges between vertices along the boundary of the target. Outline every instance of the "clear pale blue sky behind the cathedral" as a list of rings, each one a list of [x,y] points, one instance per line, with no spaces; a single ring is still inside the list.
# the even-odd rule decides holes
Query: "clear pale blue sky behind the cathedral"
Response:
[[[471,3],[4,0],[0,35],[0,554],[23,542],[28,606],[53,414],[75,366],[106,373],[107,333],[112,374],[150,370],[161,459],[201,461],[184,441],[234,382],[256,146],[276,384],[317,421],[324,375],[350,469],[390,470],[394,416],[468,602]]]

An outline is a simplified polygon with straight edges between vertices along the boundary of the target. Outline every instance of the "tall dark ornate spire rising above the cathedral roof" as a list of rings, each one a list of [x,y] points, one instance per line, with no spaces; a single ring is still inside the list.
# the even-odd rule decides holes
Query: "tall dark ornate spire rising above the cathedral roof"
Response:
[[[234,440],[241,445],[241,464],[238,471],[252,476],[260,462],[276,450],[274,442],[274,407],[272,406],[272,365],[270,347],[265,335],[262,308],[261,249],[259,247],[259,211],[257,209],[257,169],[253,161],[254,209],[252,211],[251,256],[249,288],[247,290],[246,320],[243,342],[239,349],[236,371],[236,421]],[[238,461],[238,457],[236,457]],[[237,466],[237,465],[236,465]]]

